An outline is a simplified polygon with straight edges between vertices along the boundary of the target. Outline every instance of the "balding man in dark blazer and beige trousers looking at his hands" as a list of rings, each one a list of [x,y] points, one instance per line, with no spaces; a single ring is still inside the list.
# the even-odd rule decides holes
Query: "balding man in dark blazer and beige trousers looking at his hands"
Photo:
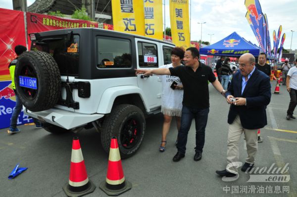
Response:
[[[227,167],[216,171],[220,176],[233,177],[238,174],[239,141],[242,133],[247,143],[247,159],[241,170],[253,167],[258,148],[257,131],[267,125],[266,105],[271,98],[269,77],[255,67],[255,57],[245,53],[239,58],[240,72],[237,72],[225,94],[231,104],[228,123]]]

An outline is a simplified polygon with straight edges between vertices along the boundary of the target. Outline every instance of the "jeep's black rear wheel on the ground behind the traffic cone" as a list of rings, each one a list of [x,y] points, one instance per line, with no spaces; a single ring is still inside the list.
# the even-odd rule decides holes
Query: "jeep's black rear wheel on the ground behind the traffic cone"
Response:
[[[140,147],[145,130],[146,119],[140,108],[131,104],[116,105],[104,119],[101,132],[102,147],[109,153],[111,137],[115,136],[118,141],[121,158],[128,158],[135,154]],[[129,131],[132,133],[131,138],[128,135]],[[129,138],[130,140],[128,141],[130,143],[127,143]]]

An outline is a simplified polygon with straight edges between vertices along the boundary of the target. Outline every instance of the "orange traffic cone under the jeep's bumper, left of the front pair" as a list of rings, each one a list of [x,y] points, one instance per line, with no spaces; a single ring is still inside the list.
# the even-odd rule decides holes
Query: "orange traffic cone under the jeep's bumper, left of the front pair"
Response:
[[[69,182],[63,187],[68,197],[81,197],[94,192],[95,185],[88,179],[82,149],[77,137],[73,138]]]

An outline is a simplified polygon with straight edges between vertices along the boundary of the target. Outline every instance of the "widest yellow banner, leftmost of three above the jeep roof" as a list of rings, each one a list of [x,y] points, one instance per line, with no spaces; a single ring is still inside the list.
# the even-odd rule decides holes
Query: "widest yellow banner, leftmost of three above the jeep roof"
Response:
[[[115,31],[145,36],[143,0],[111,0]]]

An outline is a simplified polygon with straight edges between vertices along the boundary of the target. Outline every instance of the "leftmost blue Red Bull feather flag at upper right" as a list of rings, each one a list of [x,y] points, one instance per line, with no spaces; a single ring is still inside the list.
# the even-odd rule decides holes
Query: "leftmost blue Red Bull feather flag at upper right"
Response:
[[[253,25],[253,28],[258,36],[258,42],[260,48],[266,53],[266,41],[264,41],[263,31],[263,15],[261,5],[258,0],[245,0],[245,5],[249,14],[249,18]]]

